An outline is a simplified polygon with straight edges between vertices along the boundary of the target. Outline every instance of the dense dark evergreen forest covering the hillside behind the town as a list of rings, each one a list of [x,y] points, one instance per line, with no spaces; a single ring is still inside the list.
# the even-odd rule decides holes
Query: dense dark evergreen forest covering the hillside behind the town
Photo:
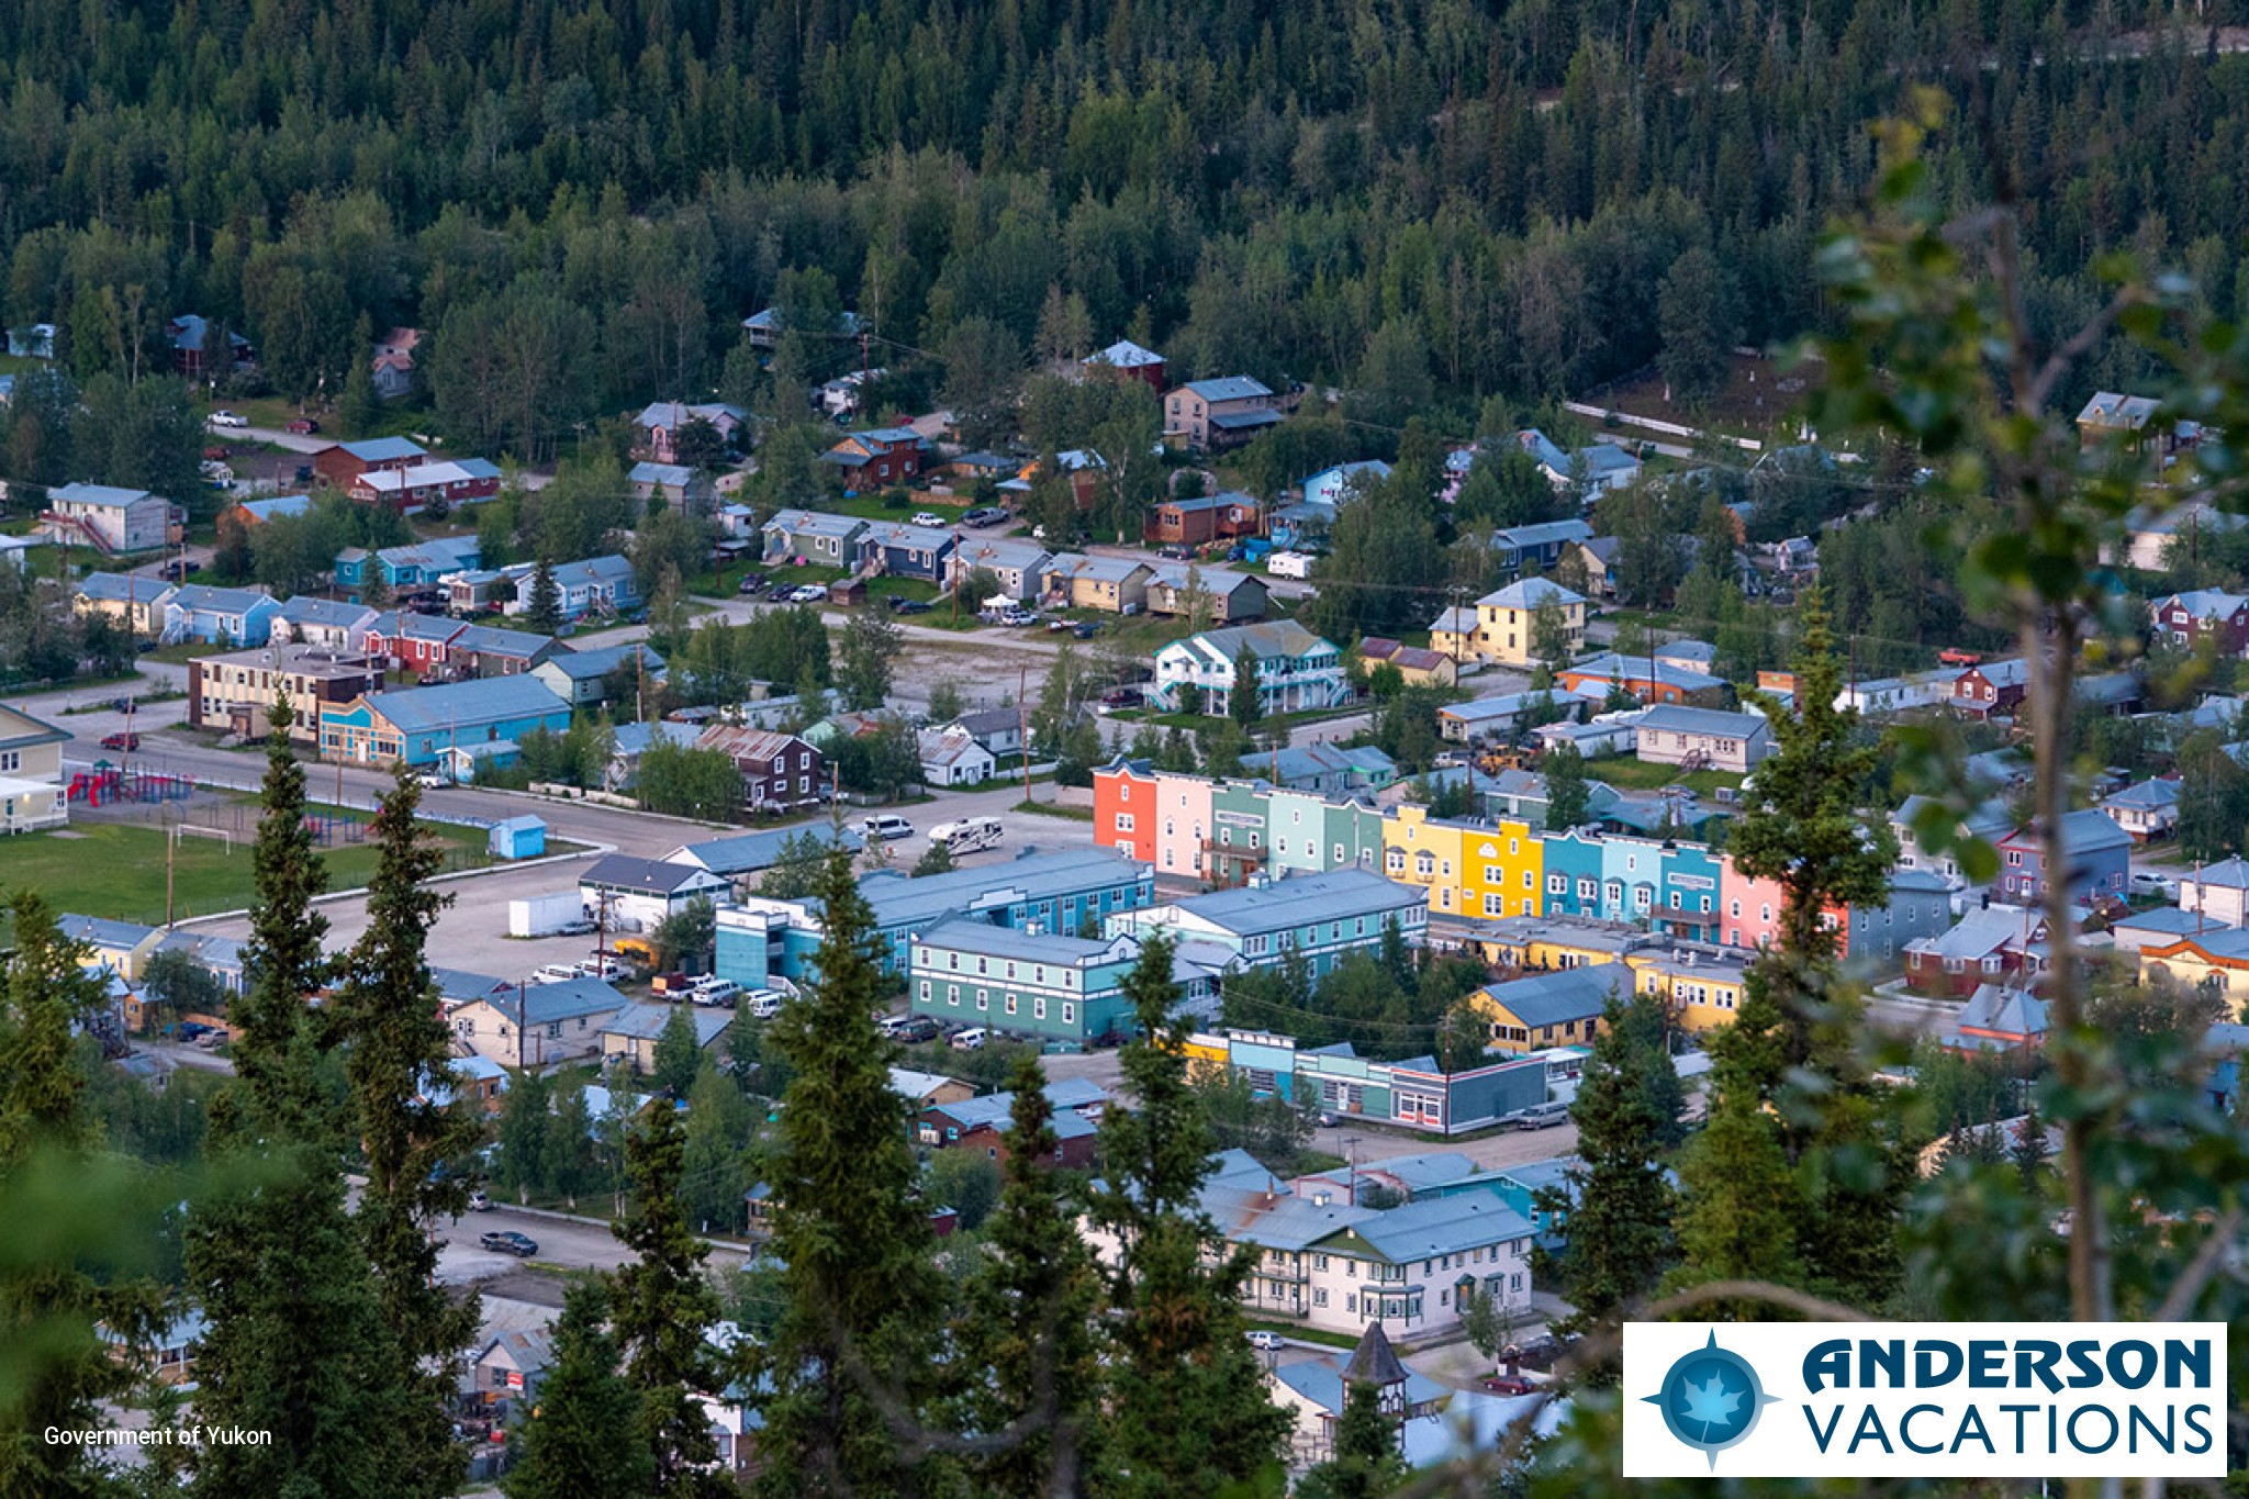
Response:
[[[58,324],[85,380],[196,310],[299,398],[335,396],[369,328],[423,326],[441,418],[526,456],[654,393],[747,396],[738,321],[789,272],[893,364],[985,319],[1021,351],[1131,335],[1185,373],[1379,389],[1374,425],[1473,423],[1646,364],[1687,252],[1716,258],[1696,294],[1727,333],[1817,326],[1815,240],[1909,81],[1979,124],[1939,151],[1948,191],[2004,169],[2035,205],[2044,326],[2125,247],[2233,312],[2240,9],[13,4],[4,312]],[[814,353],[812,378],[859,357]]]

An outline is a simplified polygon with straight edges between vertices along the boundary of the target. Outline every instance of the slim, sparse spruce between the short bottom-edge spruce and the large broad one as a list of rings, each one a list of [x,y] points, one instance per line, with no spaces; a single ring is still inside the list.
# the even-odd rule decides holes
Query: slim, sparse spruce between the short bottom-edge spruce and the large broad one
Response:
[[[657,1099],[625,1128],[625,1180],[632,1200],[609,1225],[639,1259],[616,1272],[616,1339],[625,1380],[639,1393],[639,1434],[654,1470],[654,1492],[699,1495],[717,1459],[711,1418],[695,1396],[726,1387],[704,1333],[717,1321],[717,1290],[702,1265],[711,1245],[679,1207],[686,1137],[679,1110]]]

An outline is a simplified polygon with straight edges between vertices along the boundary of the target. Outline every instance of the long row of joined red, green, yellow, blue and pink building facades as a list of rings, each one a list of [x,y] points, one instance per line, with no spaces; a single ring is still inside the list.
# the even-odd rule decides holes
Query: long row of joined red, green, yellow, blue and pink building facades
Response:
[[[1415,805],[1385,811],[1136,762],[1095,773],[1093,827],[1102,847],[1151,865],[1156,879],[1239,885],[1361,867],[1424,888],[1435,919],[1586,917],[1756,948],[1779,935],[1783,906],[1777,881],[1743,874],[1702,843],[1433,818]],[[1950,928],[1950,890],[1932,872],[1898,870],[1887,903],[1833,910],[1828,924],[1846,957],[1891,962],[1907,942]]]

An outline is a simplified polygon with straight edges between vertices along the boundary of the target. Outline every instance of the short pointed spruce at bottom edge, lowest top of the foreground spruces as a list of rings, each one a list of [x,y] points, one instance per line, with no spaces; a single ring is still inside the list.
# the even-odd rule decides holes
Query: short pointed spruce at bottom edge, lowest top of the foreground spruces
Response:
[[[499,1490],[508,1499],[643,1499],[657,1461],[641,1441],[641,1398],[618,1373],[607,1279],[578,1281],[562,1294],[553,1366],[538,1409],[515,1436],[515,1465]]]

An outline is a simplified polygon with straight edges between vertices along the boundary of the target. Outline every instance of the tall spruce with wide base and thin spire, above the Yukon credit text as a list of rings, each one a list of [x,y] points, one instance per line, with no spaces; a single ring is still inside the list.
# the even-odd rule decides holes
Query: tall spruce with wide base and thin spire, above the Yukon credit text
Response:
[[[214,1499],[369,1499],[396,1492],[409,1396],[403,1360],[344,1209],[346,1124],[308,996],[328,975],[326,870],[304,827],[304,769],[277,708],[265,751],[250,991],[234,1016],[238,1079],[211,1106],[220,1182],[187,1223],[187,1290],[209,1328],[196,1420],[268,1432],[202,1445],[196,1490]]]

